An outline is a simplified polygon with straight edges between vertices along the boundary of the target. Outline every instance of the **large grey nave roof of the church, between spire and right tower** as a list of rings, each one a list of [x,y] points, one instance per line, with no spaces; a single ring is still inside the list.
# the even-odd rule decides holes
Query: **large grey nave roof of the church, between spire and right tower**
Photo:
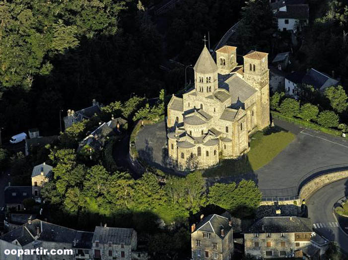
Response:
[[[243,79],[234,75],[225,81],[228,85],[229,94],[231,95],[232,104],[237,103],[237,101],[245,102],[249,97],[257,92],[255,88],[250,86]]]

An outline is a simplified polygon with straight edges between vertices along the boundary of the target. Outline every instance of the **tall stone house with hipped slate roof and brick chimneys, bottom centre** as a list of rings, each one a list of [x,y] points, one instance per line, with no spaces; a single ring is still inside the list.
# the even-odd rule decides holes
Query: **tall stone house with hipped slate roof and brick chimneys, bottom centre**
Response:
[[[232,221],[216,214],[201,216],[191,226],[192,260],[230,260],[233,255]]]

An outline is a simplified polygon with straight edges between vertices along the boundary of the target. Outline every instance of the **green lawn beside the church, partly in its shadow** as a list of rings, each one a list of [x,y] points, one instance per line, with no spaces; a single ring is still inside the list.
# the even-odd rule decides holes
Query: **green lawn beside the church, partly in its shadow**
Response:
[[[250,151],[238,160],[222,160],[220,165],[208,169],[204,177],[234,176],[260,169],[278,155],[295,135],[284,130],[256,132],[250,137]]]

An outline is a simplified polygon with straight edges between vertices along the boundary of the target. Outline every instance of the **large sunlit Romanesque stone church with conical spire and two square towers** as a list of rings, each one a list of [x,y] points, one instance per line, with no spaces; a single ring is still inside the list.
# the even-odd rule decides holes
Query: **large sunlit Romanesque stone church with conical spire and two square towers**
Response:
[[[195,88],[168,104],[168,156],[180,170],[237,158],[250,150],[249,135],[270,125],[268,54],[250,51],[238,65],[236,49],[220,48],[215,63],[205,46]]]

